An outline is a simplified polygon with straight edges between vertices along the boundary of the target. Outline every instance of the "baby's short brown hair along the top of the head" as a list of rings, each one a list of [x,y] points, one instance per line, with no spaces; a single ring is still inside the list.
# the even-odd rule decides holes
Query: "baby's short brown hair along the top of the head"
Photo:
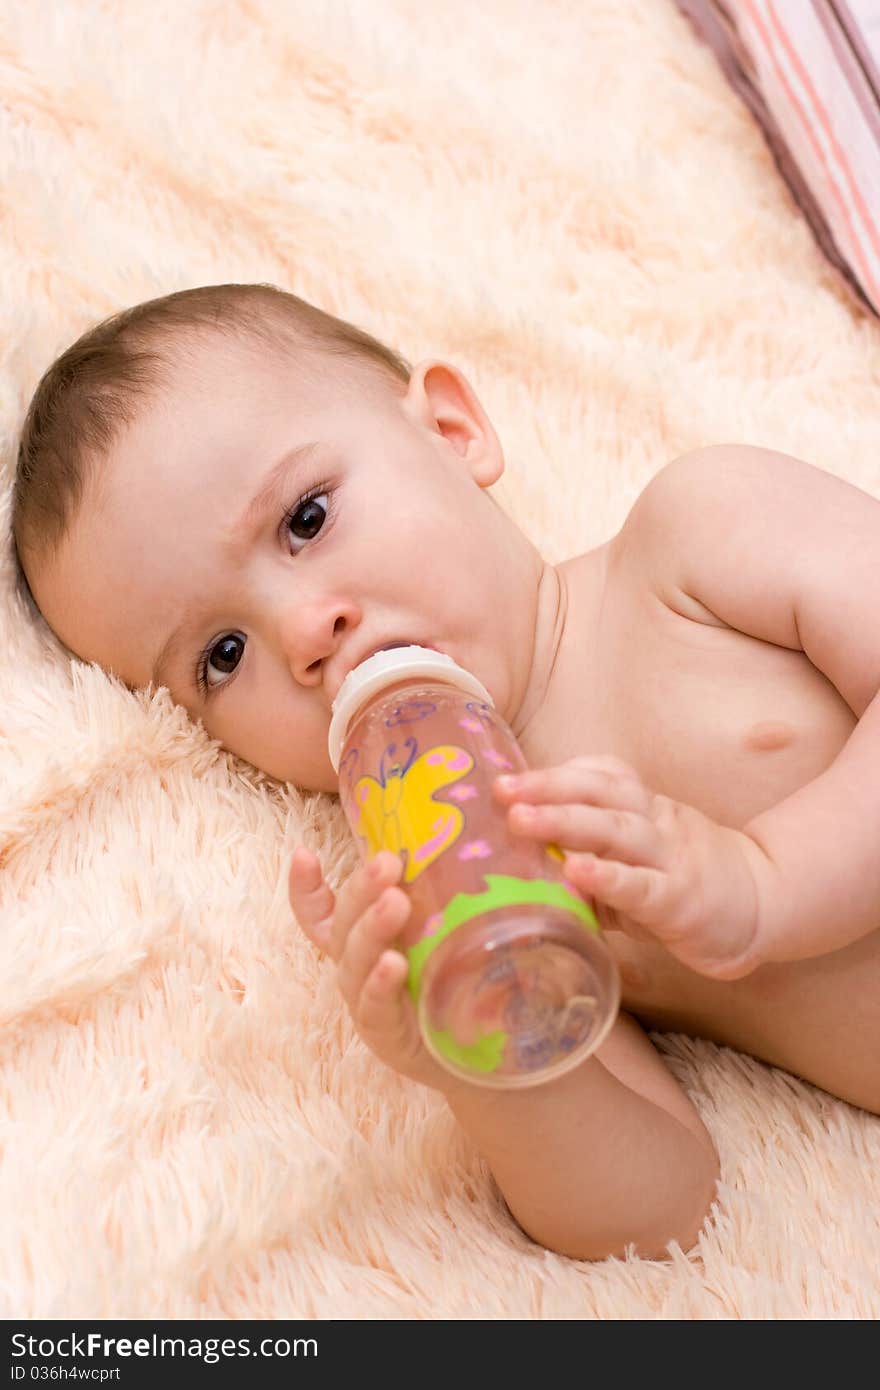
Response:
[[[317,349],[409,382],[407,361],[353,324],[277,285],[200,285],[121,310],[89,328],[40,378],[21,431],[13,485],[15,578],[36,606],[25,563],[64,541],[86,481],[146,402],[161,392],[199,329],[274,350]]]

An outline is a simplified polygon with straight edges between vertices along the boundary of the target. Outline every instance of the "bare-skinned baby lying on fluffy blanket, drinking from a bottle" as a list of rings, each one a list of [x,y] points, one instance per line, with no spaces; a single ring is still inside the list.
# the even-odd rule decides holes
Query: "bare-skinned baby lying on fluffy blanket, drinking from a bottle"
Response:
[[[524,1090],[442,1072],[388,851],[334,895],[298,848],[292,910],[360,1037],[445,1095],[524,1232],[663,1258],[696,1240],[719,1165],[644,1029],[880,1112],[880,503],[722,445],[553,566],[491,496],[502,470],[456,367],[410,370],[272,286],[185,291],[92,329],[38,386],[21,580],[78,657],[165,685],[307,790],[336,791],[331,703],[371,652],[418,642],[478,677],[532,769],[498,778],[499,808],[562,847],[619,962],[603,1045]]]

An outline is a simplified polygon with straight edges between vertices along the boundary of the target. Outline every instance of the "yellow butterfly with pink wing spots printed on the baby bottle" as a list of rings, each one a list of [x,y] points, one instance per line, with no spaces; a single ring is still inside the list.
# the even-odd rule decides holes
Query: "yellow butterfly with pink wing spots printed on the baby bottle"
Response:
[[[395,760],[396,744],[389,744],[378,780],[359,778],[353,796],[355,828],[367,841],[370,855],[380,849],[406,851],[403,881],[412,883],[464,830],[459,808],[434,801],[434,792],[466,777],[474,759],[455,744],[441,744],[414,758],[416,741],[407,738],[406,744],[412,745],[409,758]]]

